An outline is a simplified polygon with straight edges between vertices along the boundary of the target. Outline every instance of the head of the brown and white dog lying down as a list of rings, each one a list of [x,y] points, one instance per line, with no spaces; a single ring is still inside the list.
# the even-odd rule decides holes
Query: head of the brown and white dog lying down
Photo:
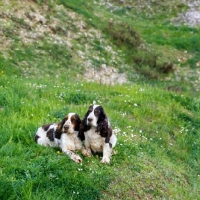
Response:
[[[69,113],[57,127],[58,132],[73,134],[79,131],[81,124],[80,117],[76,113]]]

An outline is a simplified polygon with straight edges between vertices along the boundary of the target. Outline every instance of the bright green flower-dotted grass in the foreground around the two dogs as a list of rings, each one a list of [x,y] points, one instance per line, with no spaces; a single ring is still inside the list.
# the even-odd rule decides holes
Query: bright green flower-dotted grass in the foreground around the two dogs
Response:
[[[63,78],[52,83],[16,75],[2,80],[1,198],[198,196],[197,100],[146,85],[108,87]],[[118,131],[118,153],[110,165],[100,164],[98,155],[78,165],[58,149],[35,144],[38,126],[58,122],[70,111],[83,117],[93,99],[104,105]]]

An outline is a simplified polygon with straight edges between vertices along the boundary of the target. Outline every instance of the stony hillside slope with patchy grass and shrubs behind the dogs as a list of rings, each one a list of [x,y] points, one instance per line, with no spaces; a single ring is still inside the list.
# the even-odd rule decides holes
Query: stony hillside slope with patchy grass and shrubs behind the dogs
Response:
[[[26,75],[37,74],[44,65],[50,68],[41,56],[34,62],[35,55],[53,55],[51,67],[71,66],[70,73],[85,80],[113,84],[153,79],[166,89],[194,96],[199,91],[198,29],[171,23],[186,4],[57,2],[1,3],[2,54],[15,59]]]

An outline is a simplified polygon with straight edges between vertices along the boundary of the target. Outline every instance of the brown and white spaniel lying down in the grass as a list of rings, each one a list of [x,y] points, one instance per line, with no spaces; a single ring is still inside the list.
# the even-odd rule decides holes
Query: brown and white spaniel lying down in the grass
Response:
[[[73,151],[82,149],[83,138],[79,135],[80,117],[69,113],[60,123],[46,124],[38,128],[35,141],[44,146],[60,147],[75,162],[82,162]]]

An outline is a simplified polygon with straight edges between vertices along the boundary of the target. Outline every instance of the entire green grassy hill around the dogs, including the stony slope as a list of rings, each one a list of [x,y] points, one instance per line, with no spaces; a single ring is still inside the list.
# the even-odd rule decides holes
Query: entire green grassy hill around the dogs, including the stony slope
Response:
[[[200,34],[172,23],[187,9],[0,2],[0,199],[199,198]],[[110,165],[35,143],[39,126],[83,118],[93,100],[118,137]]]

